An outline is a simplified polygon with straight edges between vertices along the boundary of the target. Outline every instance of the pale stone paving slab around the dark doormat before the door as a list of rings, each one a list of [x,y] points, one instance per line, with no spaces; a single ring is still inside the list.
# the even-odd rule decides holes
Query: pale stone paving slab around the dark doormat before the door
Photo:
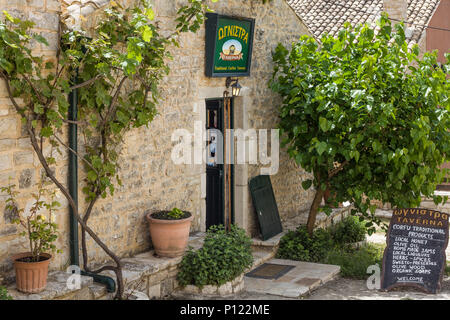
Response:
[[[292,265],[295,268],[273,280],[244,277],[244,286],[247,292],[299,298],[334,279],[341,269],[335,265],[284,259],[272,259],[267,263]]]

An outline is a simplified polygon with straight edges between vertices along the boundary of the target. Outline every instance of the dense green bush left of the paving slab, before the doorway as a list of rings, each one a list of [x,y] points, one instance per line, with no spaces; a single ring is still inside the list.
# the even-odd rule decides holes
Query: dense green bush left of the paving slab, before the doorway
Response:
[[[220,286],[242,274],[253,262],[251,239],[243,229],[232,225],[230,231],[221,226],[208,229],[203,247],[189,249],[180,264],[180,285]]]

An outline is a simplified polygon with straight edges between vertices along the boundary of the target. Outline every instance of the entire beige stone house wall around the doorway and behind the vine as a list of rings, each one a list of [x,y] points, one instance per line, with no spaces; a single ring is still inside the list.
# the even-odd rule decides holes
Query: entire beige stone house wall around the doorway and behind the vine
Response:
[[[177,5],[174,5],[176,2]],[[177,8],[186,1],[155,0],[156,19],[160,27],[173,30]],[[278,42],[289,45],[306,34],[307,29],[284,0],[273,0],[263,5],[260,1],[219,0],[211,4],[222,14],[253,17],[256,30],[253,49],[251,76],[241,78],[249,106],[244,110],[250,128],[275,128],[279,98],[268,88],[272,72],[271,51]],[[37,22],[37,30],[51,41],[45,49],[49,57],[55,54],[58,1],[4,1],[0,7],[12,14]],[[89,225],[100,238],[122,257],[134,255],[150,248],[145,214],[154,210],[179,207],[195,215],[191,231],[203,230],[201,222],[205,210],[202,195],[203,166],[175,165],[170,158],[174,143],[171,134],[174,129],[185,128],[194,131],[193,123],[204,118],[203,105],[199,104],[204,88],[225,89],[224,78],[204,76],[204,37],[201,28],[196,34],[180,37],[180,48],[171,50],[174,59],[169,61],[171,73],[161,84],[162,98],[158,106],[159,115],[148,128],[133,130],[125,137],[121,147],[120,175],[124,185],[118,187],[114,197],[99,201],[89,220]],[[36,48],[43,50],[43,48]],[[220,96],[215,96],[219,98]],[[213,98],[213,97],[211,97]],[[56,168],[57,176],[66,181],[67,154],[61,156]],[[259,174],[259,166],[250,166],[249,178]],[[39,163],[34,156],[28,138],[23,133],[19,117],[12,110],[6,97],[4,84],[0,82],[0,185],[13,182],[23,191],[20,202],[30,204],[30,193],[41,175]],[[301,188],[306,174],[290,160],[286,152],[280,151],[280,166],[272,183],[282,220],[304,213],[312,201],[312,192]],[[83,173],[80,173],[80,181]],[[81,186],[80,192],[81,195]],[[251,198],[248,196],[248,231],[258,233]],[[11,269],[8,257],[24,249],[24,239],[10,223],[10,213],[4,209],[5,196],[0,195],[0,270]],[[52,261],[51,269],[63,269],[68,265],[68,215],[64,199],[59,199],[64,208],[57,216],[61,229],[58,246],[63,250]],[[80,199],[80,206],[84,206]],[[203,212],[203,213],[202,213]],[[88,237],[89,258],[97,263],[104,262],[106,255]]]

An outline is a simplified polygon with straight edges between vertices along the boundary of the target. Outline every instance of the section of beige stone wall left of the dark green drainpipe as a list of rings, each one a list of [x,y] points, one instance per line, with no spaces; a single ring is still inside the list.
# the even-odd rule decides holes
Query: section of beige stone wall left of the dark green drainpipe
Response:
[[[49,46],[33,43],[33,52],[42,53],[46,59],[54,59],[57,48],[58,12],[60,10],[58,0],[0,0],[0,8],[13,16],[35,22],[35,31],[47,38]],[[0,13],[0,19],[3,20],[3,18],[3,14]],[[58,155],[58,164],[55,167],[56,176],[64,182],[67,175],[66,159],[66,154]],[[9,182],[15,184],[20,191],[18,197],[20,207],[29,210],[32,205],[31,193],[36,191],[35,185],[42,174],[43,171],[32,150],[29,138],[25,134],[20,117],[16,114],[7,96],[5,84],[1,80],[0,186],[6,186]],[[0,194],[0,274],[12,268],[9,256],[27,250],[25,238],[18,235],[22,230],[18,230],[17,226],[11,223],[14,214],[5,209],[5,200],[6,196]],[[65,199],[61,196],[58,196],[58,200],[65,205]],[[52,263],[53,268],[63,266],[68,260],[68,218],[66,210],[61,210],[57,214],[56,222],[62,230],[57,245],[64,252]]]

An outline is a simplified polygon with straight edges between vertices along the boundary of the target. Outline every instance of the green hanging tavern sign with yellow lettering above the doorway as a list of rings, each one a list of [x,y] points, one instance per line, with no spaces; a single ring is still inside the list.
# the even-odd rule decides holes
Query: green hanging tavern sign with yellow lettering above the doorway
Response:
[[[206,76],[249,76],[255,20],[216,13],[206,18]]]

